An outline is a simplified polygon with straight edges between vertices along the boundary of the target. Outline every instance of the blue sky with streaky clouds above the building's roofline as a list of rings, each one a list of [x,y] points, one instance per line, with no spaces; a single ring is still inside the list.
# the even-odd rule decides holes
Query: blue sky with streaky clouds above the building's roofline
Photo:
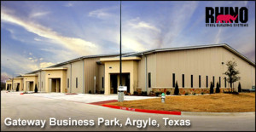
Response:
[[[119,1],[1,1],[1,81],[119,53]],[[248,27],[207,27],[206,7],[247,7]],[[122,52],[228,43],[255,62],[255,2],[122,2]]]

